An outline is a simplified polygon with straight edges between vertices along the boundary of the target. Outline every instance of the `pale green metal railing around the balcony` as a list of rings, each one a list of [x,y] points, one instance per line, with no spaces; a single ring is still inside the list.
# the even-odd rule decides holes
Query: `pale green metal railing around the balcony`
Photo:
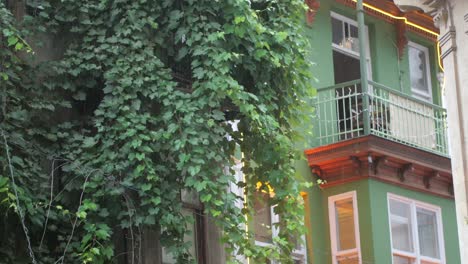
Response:
[[[363,93],[360,80],[319,89],[313,103],[316,146],[376,135],[448,156],[447,115],[440,106],[372,81]]]

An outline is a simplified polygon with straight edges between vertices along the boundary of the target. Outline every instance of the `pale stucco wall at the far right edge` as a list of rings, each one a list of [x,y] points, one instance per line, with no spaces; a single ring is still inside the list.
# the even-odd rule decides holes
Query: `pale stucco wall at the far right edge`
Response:
[[[441,1],[442,2],[442,1]],[[445,67],[454,192],[462,263],[468,263],[468,1],[451,0],[441,19],[441,48]]]

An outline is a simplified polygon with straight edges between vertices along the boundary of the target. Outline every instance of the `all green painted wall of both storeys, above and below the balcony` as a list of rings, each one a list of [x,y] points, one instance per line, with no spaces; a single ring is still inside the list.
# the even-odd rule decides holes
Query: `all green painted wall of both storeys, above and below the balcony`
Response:
[[[306,29],[306,34],[312,43],[312,48],[307,56],[310,61],[315,63],[311,72],[315,78],[313,86],[317,89],[335,84],[333,50],[331,46],[332,29],[330,12],[332,11],[356,20],[355,10],[342,6],[335,1],[321,1],[320,9],[315,17],[315,22]],[[371,79],[387,87],[411,95],[407,49],[405,49],[400,60],[398,58],[396,30],[394,25],[369,16],[366,16],[366,25],[369,31],[372,70]],[[441,104],[441,93],[437,81],[439,68],[436,44],[411,32],[407,33],[407,37],[410,41],[428,47],[431,62],[433,99],[435,104]],[[309,120],[305,122],[308,121]],[[319,135],[319,131],[316,124],[312,123],[312,125],[312,135],[306,134],[305,139],[297,143],[298,149],[307,149],[317,146],[315,138]],[[330,129],[333,129],[333,126],[335,126],[336,129],[336,124],[331,124],[330,126]],[[299,127],[302,128],[300,125]],[[296,176],[299,179],[309,182],[316,181],[311,175],[307,161],[298,161],[296,164],[296,171]],[[450,264],[460,263],[457,251],[458,240],[456,239],[457,230],[453,200],[403,189],[374,180],[361,180],[323,190],[318,186],[314,186],[310,190],[307,190],[306,214],[309,216],[308,224],[310,229],[310,233],[307,235],[309,263],[331,263],[328,197],[353,190],[357,192],[358,199],[363,263],[391,263],[390,229],[387,210],[388,192],[440,206],[442,208],[444,225],[446,262]]]

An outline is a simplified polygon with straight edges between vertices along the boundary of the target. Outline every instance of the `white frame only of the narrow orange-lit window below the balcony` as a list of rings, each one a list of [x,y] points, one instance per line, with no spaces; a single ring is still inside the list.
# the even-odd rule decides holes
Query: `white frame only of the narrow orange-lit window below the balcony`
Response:
[[[335,210],[335,202],[340,200],[345,200],[351,198],[353,201],[353,214],[354,214],[354,234],[355,234],[355,243],[356,248],[354,249],[347,249],[347,250],[340,250],[338,251],[338,242],[336,241],[336,210]],[[360,233],[359,233],[359,215],[358,215],[358,204],[357,204],[357,194],[356,191],[350,191],[334,196],[328,197],[328,218],[330,223],[330,240],[332,246],[332,263],[338,264],[337,258],[340,256],[346,256],[349,254],[356,254],[359,258],[359,264],[362,263],[361,257],[361,240],[360,240]]]

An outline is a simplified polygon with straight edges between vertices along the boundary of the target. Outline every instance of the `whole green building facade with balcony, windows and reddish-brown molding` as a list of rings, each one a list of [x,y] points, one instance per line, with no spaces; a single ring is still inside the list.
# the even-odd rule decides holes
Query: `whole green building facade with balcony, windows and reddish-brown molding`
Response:
[[[365,1],[366,90],[355,2],[320,1],[307,28],[317,97],[297,177],[324,182],[304,195],[307,263],[460,263],[437,31],[389,7]]]

